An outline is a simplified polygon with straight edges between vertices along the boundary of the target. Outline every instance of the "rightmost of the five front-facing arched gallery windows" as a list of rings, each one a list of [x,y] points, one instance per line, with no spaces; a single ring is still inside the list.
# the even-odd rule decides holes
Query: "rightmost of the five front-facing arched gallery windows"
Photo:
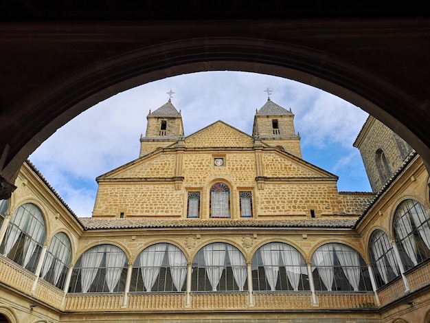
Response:
[[[321,245],[312,256],[311,266],[317,291],[372,291],[363,258],[347,245]]]

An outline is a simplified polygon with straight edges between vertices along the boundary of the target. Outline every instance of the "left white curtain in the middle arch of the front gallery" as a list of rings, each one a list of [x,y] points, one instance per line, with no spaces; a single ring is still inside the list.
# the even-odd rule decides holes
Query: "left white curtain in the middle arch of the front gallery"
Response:
[[[211,243],[205,246],[203,256],[205,257],[207,278],[212,286],[212,291],[216,291],[225,265],[225,243]]]

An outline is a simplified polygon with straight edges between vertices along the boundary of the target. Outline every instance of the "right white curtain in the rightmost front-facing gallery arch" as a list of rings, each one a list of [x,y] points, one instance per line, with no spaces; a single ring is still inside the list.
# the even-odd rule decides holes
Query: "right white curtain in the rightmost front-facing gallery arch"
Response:
[[[354,291],[358,291],[360,284],[360,258],[358,252],[340,243],[336,243],[334,247],[343,274],[345,274]]]

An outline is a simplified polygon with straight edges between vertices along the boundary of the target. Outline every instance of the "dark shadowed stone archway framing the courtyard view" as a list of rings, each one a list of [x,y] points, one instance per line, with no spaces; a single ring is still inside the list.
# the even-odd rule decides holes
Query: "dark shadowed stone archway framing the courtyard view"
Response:
[[[429,113],[420,100],[381,76],[315,49],[253,38],[192,38],[173,41],[87,66],[35,91],[14,107],[3,133],[13,134],[1,151],[3,189],[23,161],[82,111],[116,93],[147,82],[196,71],[251,71],[297,80],[343,98],[403,137],[430,165]],[[413,115],[409,111],[414,111]],[[430,120],[429,120],[430,121]]]

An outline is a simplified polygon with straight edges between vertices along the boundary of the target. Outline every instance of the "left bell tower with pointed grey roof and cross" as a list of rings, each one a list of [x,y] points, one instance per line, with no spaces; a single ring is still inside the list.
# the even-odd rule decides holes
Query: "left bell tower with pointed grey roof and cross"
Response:
[[[170,90],[170,96],[172,90]],[[167,147],[183,138],[181,112],[173,106],[171,98],[157,110],[149,111],[146,116],[146,134],[140,136],[140,153],[142,157],[157,148]]]

